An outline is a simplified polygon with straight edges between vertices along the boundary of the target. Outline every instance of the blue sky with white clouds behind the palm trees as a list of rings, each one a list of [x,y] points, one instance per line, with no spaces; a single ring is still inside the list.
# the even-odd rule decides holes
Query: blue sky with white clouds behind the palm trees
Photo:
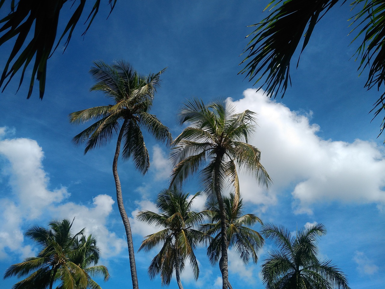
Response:
[[[107,265],[111,275],[110,281],[101,281],[102,287],[131,287],[111,170],[114,144],[83,155],[83,148],[73,146],[71,139],[84,127],[69,124],[67,117],[109,104],[101,93],[89,92],[92,61],[124,59],[142,74],[167,67],[152,113],[174,137],[181,131],[176,111],[191,97],[205,102],[231,97],[239,111],[258,113],[252,143],[261,150],[261,162],[274,184],[264,192],[249,176],[242,176],[245,213],[256,213],[264,222],[292,232],[306,223],[323,223],[328,234],[319,242],[320,259],[331,259],[352,288],[383,286],[385,136],[376,139],[381,119],[370,123],[368,112],[378,92],[363,88],[366,74],[358,77],[358,63],[352,58],[357,46],[349,45],[352,35],[346,36],[351,30],[346,20],[353,14],[348,5],[338,6],[319,22],[298,69],[292,65],[293,86],[283,99],[272,100],[256,92],[258,84],[237,75],[243,59],[239,54],[248,43],[244,37],[253,31],[246,26],[266,17],[262,10],[268,2],[119,0],[107,20],[108,7],[102,6],[85,37],[80,37],[85,27],[78,25],[64,54],[58,49],[51,57],[43,101],[38,87],[26,99],[28,79],[15,94],[15,77],[0,95],[0,272],[37,251],[23,237],[26,229],[46,225],[52,218],[76,217],[75,229],[87,227],[99,240],[100,264]],[[10,49],[8,43],[0,48],[0,67]],[[167,148],[148,136],[145,141],[151,156],[145,176],[130,161],[120,161],[118,167],[136,250],[154,229],[134,217],[139,210],[154,210],[171,169]],[[199,184],[189,181],[185,190],[194,194]],[[203,202],[199,199],[196,208]],[[272,248],[266,242],[260,260]],[[150,281],[147,276],[155,254],[136,254],[142,288],[161,287],[159,278]],[[196,254],[200,277],[195,282],[186,268],[184,287],[219,288],[218,267],[209,265],[204,248]],[[263,287],[261,262],[243,265],[231,250],[229,256],[234,288]],[[0,280],[2,288],[15,282]],[[176,287],[173,279],[170,288]]]

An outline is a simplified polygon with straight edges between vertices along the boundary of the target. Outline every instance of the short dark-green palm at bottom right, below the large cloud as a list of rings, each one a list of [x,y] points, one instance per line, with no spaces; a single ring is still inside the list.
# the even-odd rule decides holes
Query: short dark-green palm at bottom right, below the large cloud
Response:
[[[266,289],[350,289],[345,274],[330,260],[319,261],[316,242],[326,234],[323,224],[301,229],[293,237],[288,229],[268,224],[263,230],[280,251],[269,252],[262,264]]]

